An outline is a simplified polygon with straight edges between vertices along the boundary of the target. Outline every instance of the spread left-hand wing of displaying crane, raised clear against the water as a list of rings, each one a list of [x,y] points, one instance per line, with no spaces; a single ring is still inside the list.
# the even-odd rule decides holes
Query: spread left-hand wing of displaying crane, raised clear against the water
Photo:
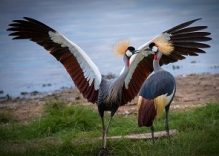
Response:
[[[8,31],[11,31],[13,39],[29,39],[49,51],[63,64],[83,96],[89,102],[96,102],[102,77],[79,46],[47,25],[28,17],[14,20]]]

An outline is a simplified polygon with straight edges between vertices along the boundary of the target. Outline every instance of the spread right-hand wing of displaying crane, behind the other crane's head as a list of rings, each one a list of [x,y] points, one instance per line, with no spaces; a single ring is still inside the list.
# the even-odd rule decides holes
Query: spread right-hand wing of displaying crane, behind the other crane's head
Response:
[[[199,53],[205,53],[203,48],[210,46],[202,42],[211,40],[208,37],[210,33],[200,30],[206,29],[207,26],[190,26],[198,20],[200,19],[191,20],[164,31],[138,48],[140,53],[132,56],[132,63],[124,81],[122,105],[138,94],[144,80],[153,71],[153,57],[150,55],[149,48],[151,43],[155,43],[158,50],[163,53],[161,65],[185,59],[188,55],[197,56]]]

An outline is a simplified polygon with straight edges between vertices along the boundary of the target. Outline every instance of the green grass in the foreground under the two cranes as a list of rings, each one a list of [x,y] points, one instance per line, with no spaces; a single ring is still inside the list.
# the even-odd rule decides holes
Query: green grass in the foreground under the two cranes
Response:
[[[42,116],[20,123],[0,114],[1,156],[97,155],[101,147],[101,120],[97,111],[84,106],[66,106],[50,102]],[[169,139],[151,141],[109,141],[110,155],[219,155],[219,104],[186,112],[170,112],[170,128],[178,134]],[[155,123],[155,131],[164,129],[164,120]],[[109,135],[150,132],[138,128],[136,116],[115,116]]]

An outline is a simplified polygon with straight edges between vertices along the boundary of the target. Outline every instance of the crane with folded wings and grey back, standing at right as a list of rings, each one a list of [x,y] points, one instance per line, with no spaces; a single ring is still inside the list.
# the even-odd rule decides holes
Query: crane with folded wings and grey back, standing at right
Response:
[[[166,112],[165,127],[169,136],[168,112],[176,92],[176,82],[171,73],[161,68],[159,60],[162,57],[162,53],[158,52],[158,47],[155,43],[152,42],[149,47],[154,52],[154,71],[145,80],[139,92],[138,126],[150,127],[154,142],[153,121],[155,117],[161,116],[164,108]]]

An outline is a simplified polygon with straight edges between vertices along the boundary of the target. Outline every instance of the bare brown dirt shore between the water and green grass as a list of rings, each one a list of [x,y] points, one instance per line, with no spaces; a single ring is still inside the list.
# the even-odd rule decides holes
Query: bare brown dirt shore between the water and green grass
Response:
[[[210,102],[219,102],[219,74],[191,74],[176,77],[176,95],[171,104],[171,111],[183,111],[191,107],[200,107]],[[62,100],[67,104],[82,104],[90,107],[96,106],[88,103],[76,89],[64,89],[54,93],[40,93],[16,99],[0,101],[0,113],[10,113],[19,121],[29,121],[40,116],[43,106],[51,100]],[[137,113],[136,99],[120,107],[117,114],[129,115]]]

